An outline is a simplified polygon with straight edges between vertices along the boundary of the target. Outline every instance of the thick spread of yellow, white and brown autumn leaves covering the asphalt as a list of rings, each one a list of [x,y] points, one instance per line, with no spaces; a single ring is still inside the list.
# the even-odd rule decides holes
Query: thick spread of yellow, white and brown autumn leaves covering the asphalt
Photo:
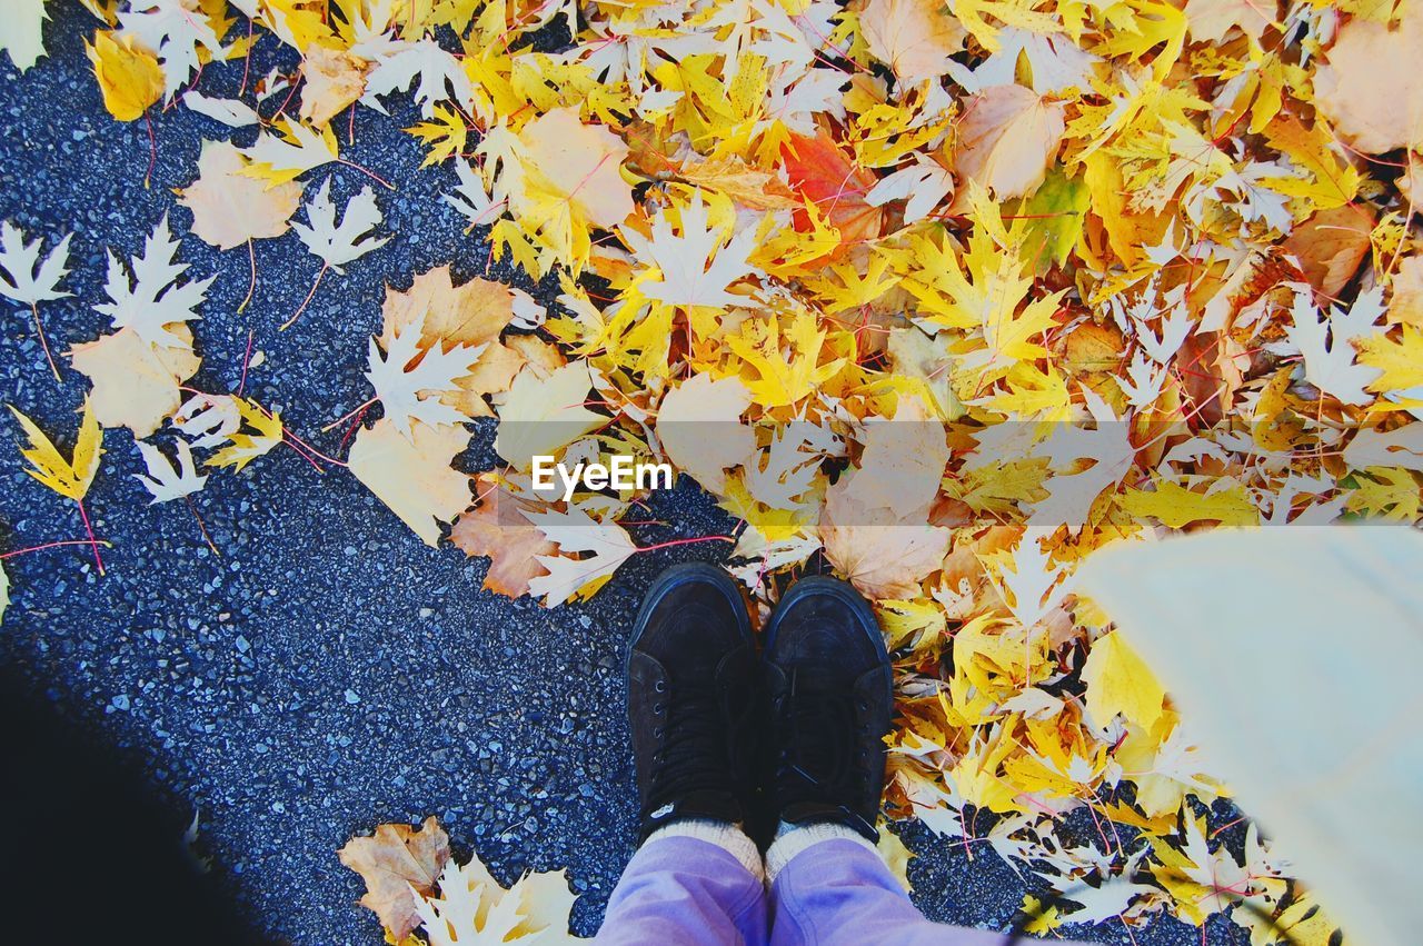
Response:
[[[1417,521],[1416,1],[85,6],[115,118],[176,100],[258,128],[203,145],[181,198],[199,239],[290,226],[313,296],[360,265],[388,239],[374,191],[337,222],[327,178],[290,220],[344,164],[337,117],[411,90],[471,239],[559,282],[552,317],[447,269],[387,292],[366,341],[381,417],[346,462],[425,542],[454,521],[487,588],[586,597],[645,551],[619,525],[639,496],[539,495],[531,457],[670,458],[743,524],[731,568],[758,603],[814,555],[874,599],[898,669],[888,805],[1042,872],[1074,906],[1039,932],[1242,905],[1254,946],[1328,937],[1254,829],[1218,844],[1190,720],[1072,572],[1178,529]],[[37,41],[43,0],[21,9]],[[549,24],[561,53],[525,41]],[[256,77],[252,102],[196,90],[266,34],[297,74]],[[41,263],[6,232],[6,293],[37,330],[64,248]],[[83,430],[171,418],[209,465],[283,442],[323,462],[248,398],[184,397],[206,285],[175,250],[164,222],[131,267],[111,259],[114,331],[71,353]],[[471,504],[451,464],[478,417],[505,465]],[[71,464],[34,442],[81,501],[97,442]],[[139,450],[155,498],[201,488],[188,445]],[[1097,844],[1056,835],[1079,809]],[[427,873],[421,896],[448,898]]]

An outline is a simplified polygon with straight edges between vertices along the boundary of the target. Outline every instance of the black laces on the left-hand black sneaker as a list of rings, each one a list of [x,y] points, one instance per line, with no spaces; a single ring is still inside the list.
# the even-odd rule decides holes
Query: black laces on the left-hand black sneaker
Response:
[[[733,791],[727,764],[726,720],[714,683],[665,684],[657,708],[667,717],[653,734],[650,809],[692,791]]]

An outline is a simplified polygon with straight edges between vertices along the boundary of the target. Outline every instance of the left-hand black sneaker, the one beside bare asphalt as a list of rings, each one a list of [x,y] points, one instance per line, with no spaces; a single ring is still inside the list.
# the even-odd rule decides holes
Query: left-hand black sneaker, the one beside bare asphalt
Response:
[[[639,842],[687,818],[746,821],[757,673],[746,602],[726,572],[693,562],[657,576],[628,652]]]

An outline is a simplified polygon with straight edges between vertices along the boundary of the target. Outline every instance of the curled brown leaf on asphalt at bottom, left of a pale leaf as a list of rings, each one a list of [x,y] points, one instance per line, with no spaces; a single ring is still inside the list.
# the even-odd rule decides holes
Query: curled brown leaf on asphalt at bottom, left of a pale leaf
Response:
[[[380,925],[400,940],[420,925],[410,888],[434,893],[450,859],[450,836],[431,815],[420,828],[380,825],[369,838],[347,841],[336,856],[366,881],[361,906],[374,910]]]

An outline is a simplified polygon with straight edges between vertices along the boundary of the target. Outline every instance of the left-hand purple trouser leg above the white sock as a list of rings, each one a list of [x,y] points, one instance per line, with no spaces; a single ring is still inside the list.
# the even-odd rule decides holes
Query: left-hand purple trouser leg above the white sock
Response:
[[[766,943],[766,886],[730,854],[696,838],[640,848],[608,902],[598,943]]]

